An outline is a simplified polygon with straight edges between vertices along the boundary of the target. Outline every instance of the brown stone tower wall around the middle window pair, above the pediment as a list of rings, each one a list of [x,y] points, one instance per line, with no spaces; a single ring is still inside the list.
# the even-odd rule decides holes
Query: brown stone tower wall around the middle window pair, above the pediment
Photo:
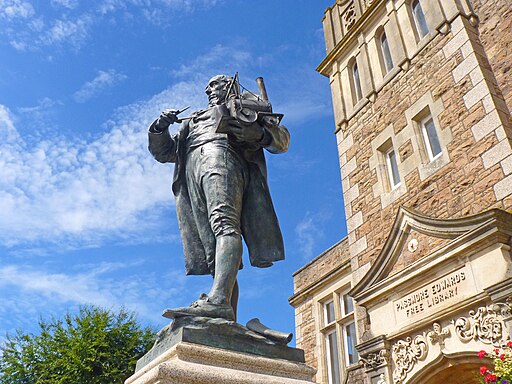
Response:
[[[510,114],[479,45],[475,28],[459,17],[447,35],[438,34],[338,132],[352,268],[370,263],[386,240],[400,205],[439,218],[457,218],[490,208],[512,208]],[[449,162],[422,179],[418,168],[402,167],[401,196],[386,206],[370,158],[374,141],[387,127],[393,134],[408,125],[405,111],[423,95],[441,100],[440,130],[451,130]],[[346,141],[352,143],[346,145]],[[407,142],[399,154],[411,156]],[[344,172],[345,171],[345,172]],[[356,187],[357,186],[357,187]],[[354,187],[358,193],[352,193]]]

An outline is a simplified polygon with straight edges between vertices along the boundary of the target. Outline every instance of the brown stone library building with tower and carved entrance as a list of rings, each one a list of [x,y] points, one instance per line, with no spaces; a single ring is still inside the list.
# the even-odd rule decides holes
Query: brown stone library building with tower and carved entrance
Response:
[[[318,383],[470,383],[512,336],[512,3],[323,19],[348,236],[294,274]]]

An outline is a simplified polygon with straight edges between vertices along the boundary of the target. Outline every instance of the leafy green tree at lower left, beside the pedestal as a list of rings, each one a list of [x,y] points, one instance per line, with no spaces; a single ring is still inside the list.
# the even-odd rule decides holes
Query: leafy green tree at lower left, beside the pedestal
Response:
[[[124,309],[84,306],[64,320],[40,320],[39,327],[38,335],[7,335],[0,384],[121,384],[155,339]]]

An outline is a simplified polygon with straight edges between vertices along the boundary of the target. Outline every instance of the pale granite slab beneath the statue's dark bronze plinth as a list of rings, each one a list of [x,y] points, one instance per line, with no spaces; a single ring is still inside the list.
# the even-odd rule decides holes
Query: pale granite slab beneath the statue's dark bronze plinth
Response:
[[[180,342],[125,384],[310,384],[303,363]]]

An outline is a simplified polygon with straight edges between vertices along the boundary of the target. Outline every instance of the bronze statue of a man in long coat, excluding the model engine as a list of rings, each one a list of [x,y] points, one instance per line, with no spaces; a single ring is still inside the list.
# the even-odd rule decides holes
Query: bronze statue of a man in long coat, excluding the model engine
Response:
[[[208,294],[164,316],[236,320],[242,237],[253,266],[269,267],[284,259],[263,148],[285,152],[290,134],[272,119],[241,124],[236,118],[224,121],[229,133],[218,133],[218,111],[230,85],[229,76],[213,77],[205,90],[208,108],[184,119],[177,134],[169,133],[169,125],[181,121],[178,111],[162,112],[149,127],[151,154],[161,163],[176,163],[172,190],[187,275],[213,276]]]

